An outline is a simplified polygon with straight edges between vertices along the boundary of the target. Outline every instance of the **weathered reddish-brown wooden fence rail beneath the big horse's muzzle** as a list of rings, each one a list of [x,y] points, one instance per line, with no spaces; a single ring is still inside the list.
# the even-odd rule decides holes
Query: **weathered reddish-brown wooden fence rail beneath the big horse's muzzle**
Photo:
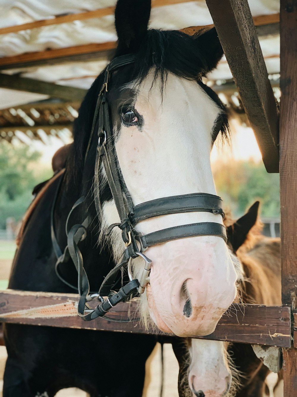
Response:
[[[107,315],[116,320],[134,320],[127,323],[111,322],[106,318],[84,322],[76,314],[77,302],[76,294],[2,291],[0,322],[168,335],[158,330],[145,330],[138,320],[138,300],[120,303]],[[290,331],[290,308],[247,304],[234,305],[220,320],[215,332],[198,338],[288,347]]]

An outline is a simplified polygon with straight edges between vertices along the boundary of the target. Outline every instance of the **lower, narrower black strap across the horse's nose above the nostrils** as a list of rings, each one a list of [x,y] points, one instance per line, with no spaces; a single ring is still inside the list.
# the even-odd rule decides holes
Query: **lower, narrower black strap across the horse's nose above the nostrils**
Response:
[[[168,227],[153,233],[141,236],[143,248],[151,247],[169,240],[183,239],[194,236],[217,236],[227,242],[226,229],[224,225],[213,222],[200,222],[195,224]]]

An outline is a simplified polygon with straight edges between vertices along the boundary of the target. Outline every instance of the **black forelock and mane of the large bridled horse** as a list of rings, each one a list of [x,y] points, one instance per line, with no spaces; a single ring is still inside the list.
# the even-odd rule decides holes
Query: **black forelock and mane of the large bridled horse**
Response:
[[[116,73],[115,80],[121,85],[130,81],[137,81],[138,85],[140,85],[147,77],[149,71],[154,70],[152,85],[158,79],[160,90],[163,91],[166,86],[168,73],[171,72],[181,78],[196,80],[217,106],[225,111],[225,107],[217,94],[202,83],[201,79],[217,65],[223,54],[219,41],[215,46],[209,46],[210,35],[214,33],[213,29],[203,35],[198,32],[192,36],[180,31],[149,29],[138,51],[135,53],[135,62],[121,69],[122,73],[121,71]],[[204,37],[203,40],[201,40],[202,36]],[[119,47],[115,56],[122,54],[123,52],[120,51]],[[74,147],[70,156],[69,166],[76,183],[80,183],[81,180],[84,155],[88,145],[98,94],[103,84],[103,76],[104,70],[86,94],[80,107],[79,116],[74,122]],[[221,133],[223,137],[228,137],[228,121],[227,117],[224,116]]]

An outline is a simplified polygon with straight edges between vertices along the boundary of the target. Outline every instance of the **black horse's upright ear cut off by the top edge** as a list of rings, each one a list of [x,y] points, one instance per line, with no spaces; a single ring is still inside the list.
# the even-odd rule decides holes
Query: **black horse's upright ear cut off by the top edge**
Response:
[[[147,34],[151,0],[118,0],[115,25],[118,35],[117,55],[137,52]]]

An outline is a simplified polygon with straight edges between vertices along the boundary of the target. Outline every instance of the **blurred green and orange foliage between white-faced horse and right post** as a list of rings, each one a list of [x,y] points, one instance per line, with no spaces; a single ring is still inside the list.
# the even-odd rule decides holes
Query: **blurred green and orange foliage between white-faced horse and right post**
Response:
[[[261,202],[262,217],[280,216],[280,177],[267,173],[262,162],[217,162],[213,167],[217,193],[236,217],[256,200]]]

